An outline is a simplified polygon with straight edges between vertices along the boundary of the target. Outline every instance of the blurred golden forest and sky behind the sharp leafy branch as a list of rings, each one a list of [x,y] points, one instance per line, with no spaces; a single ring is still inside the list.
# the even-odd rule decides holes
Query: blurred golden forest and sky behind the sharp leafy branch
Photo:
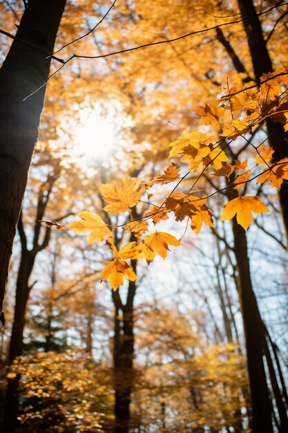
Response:
[[[0,1],[1,62],[29,3]],[[52,59],[0,328],[3,432],[288,432],[288,203],[281,216],[276,189],[245,185],[270,210],[246,234],[219,222],[231,190],[211,197],[215,227],[197,237],[162,221],[183,246],[150,266],[133,259],[139,279],[118,291],[101,282],[104,246],[39,222],[92,210],[121,223],[102,210],[99,183],[151,180],[182,131],[208,131],[193,107],[258,84],[287,65],[287,46],[285,1],[66,2],[55,46],[65,63]],[[249,140],[273,137],[267,122]],[[231,158],[250,157],[236,140]],[[223,182],[204,174],[198,189]],[[117,248],[129,235],[117,229]]]

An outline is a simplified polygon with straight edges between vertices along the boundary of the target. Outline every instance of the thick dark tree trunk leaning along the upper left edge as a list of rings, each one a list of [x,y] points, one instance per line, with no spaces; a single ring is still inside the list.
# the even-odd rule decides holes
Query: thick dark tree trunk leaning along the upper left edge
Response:
[[[0,71],[0,308],[52,53],[66,0],[29,0]],[[28,95],[41,89],[25,100]]]

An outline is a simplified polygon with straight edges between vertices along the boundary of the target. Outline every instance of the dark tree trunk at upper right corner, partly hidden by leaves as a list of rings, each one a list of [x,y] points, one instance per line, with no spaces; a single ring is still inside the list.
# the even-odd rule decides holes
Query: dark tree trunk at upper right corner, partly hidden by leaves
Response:
[[[252,0],[238,0],[240,12],[243,17],[243,26],[247,35],[247,42],[251,54],[253,71],[256,82],[260,83],[260,77],[263,73],[273,71],[273,65],[267,44],[261,28],[260,20],[256,14],[256,9]],[[267,133],[269,145],[274,149],[273,158],[278,161],[288,156],[288,133],[285,132],[283,125],[278,122],[267,120]],[[286,236],[288,239],[288,185],[282,183],[279,192],[280,209]]]

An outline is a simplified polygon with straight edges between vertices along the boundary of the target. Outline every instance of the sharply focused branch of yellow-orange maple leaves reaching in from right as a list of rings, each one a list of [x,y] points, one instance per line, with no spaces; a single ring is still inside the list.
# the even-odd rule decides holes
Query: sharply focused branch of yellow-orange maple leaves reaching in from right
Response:
[[[273,161],[273,149],[265,147],[261,151],[259,147],[251,145],[254,151],[254,163],[248,167],[248,160],[234,160],[229,162],[227,148],[238,138],[250,141],[247,134],[253,133],[254,129],[262,127],[265,120],[280,122],[288,131],[288,102],[287,90],[283,88],[288,83],[288,70],[263,75],[260,89],[251,87],[243,88],[241,91],[231,88],[229,93],[220,100],[214,100],[205,107],[195,107],[193,111],[200,118],[198,123],[210,127],[215,131],[214,135],[200,131],[184,131],[178,140],[171,142],[169,158],[178,158],[184,166],[189,169],[181,176],[180,168],[175,163],[170,163],[162,174],[155,177],[153,181],[142,181],[140,178],[126,177],[122,179],[122,185],[102,183],[99,190],[104,202],[108,203],[104,211],[110,215],[129,214],[129,221],[117,225],[124,232],[133,232],[137,241],[127,243],[121,250],[117,250],[113,241],[113,230],[116,226],[107,225],[102,218],[94,212],[84,211],[77,215],[80,221],[74,221],[66,227],[76,233],[88,233],[88,245],[94,242],[106,241],[108,248],[113,252],[113,260],[102,270],[102,279],[107,279],[113,290],[124,284],[124,277],[135,281],[133,268],[128,264],[129,259],[146,259],[150,264],[156,255],[166,258],[169,246],[180,246],[180,240],[166,232],[149,233],[149,223],[155,226],[160,221],[170,219],[175,221],[186,220],[191,229],[198,234],[202,225],[214,227],[213,212],[207,205],[209,196],[220,192],[220,190],[209,194],[199,194],[195,186],[203,174],[212,169],[213,176],[228,178],[233,174],[233,181],[228,183],[222,190],[233,188],[238,192],[236,198],[225,204],[220,221],[236,219],[244,230],[249,228],[253,221],[253,213],[262,214],[269,209],[258,196],[244,196],[240,190],[247,183],[257,179],[257,183],[270,182],[271,187],[280,190],[283,182],[288,181],[288,157],[280,161]],[[220,138],[218,138],[220,137]],[[233,154],[233,152],[232,152]],[[260,168],[260,171],[259,171]],[[251,176],[251,174],[253,176]],[[237,174],[237,176],[235,176]],[[189,177],[190,176],[190,177]],[[184,179],[195,179],[188,192],[182,192],[180,187]],[[153,203],[154,194],[151,188],[155,185],[169,185],[176,183],[162,203]],[[148,203],[149,208],[145,216],[133,219],[132,209],[141,203]],[[59,227],[57,227],[59,228]],[[146,234],[148,232],[148,234]]]

